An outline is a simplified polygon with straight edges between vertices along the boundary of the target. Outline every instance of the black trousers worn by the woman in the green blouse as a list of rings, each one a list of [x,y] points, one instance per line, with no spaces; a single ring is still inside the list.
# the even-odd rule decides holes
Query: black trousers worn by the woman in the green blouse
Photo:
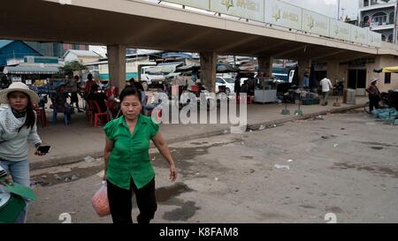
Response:
[[[133,223],[131,216],[133,191],[137,200],[140,214],[137,216],[138,223],[149,223],[157,211],[157,199],[155,197],[155,177],[141,189],[130,181],[130,190],[120,188],[107,181],[108,200],[111,208],[113,223]]]

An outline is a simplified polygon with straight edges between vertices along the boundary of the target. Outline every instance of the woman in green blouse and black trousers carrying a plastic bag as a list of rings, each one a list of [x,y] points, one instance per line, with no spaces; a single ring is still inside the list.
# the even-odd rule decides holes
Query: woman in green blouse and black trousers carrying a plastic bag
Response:
[[[149,140],[170,164],[170,179],[177,178],[172,155],[159,126],[150,117],[140,114],[141,92],[127,86],[119,95],[122,117],[104,127],[105,176],[108,200],[114,223],[132,223],[132,193],[134,191],[140,215],[138,223],[149,223],[157,211],[155,171],[149,160]]]

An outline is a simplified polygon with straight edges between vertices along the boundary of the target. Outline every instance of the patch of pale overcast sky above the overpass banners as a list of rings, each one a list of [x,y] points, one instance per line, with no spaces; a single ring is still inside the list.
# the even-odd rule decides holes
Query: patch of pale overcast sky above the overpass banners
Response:
[[[337,3],[339,0],[283,0],[288,4],[295,4],[302,8],[317,11],[325,14],[331,18],[337,19]],[[344,16],[348,15],[348,18],[356,19],[358,15],[358,0],[341,0],[340,9],[344,8]],[[340,16],[342,15],[340,10]]]

